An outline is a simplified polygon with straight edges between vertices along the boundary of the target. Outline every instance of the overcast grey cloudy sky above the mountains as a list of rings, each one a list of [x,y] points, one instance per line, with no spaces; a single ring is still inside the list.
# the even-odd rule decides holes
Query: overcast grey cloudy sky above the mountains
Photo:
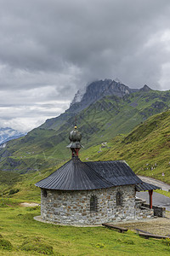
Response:
[[[116,78],[170,90],[169,0],[0,0],[0,127],[29,131]]]

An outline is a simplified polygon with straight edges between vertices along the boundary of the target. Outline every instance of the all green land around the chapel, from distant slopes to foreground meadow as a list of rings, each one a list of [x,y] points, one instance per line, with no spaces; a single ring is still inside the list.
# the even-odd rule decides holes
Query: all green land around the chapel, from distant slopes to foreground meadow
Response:
[[[22,207],[40,204],[35,183],[71,158],[66,145],[75,116],[84,146],[81,160],[126,160],[138,175],[170,183],[170,91],[144,88],[98,98],[78,113],[71,112],[73,104],[25,137],[5,143],[0,151],[2,255],[146,255],[150,247],[150,255],[169,254],[169,241],[146,241],[131,230],[120,234],[104,227],[43,224],[33,219],[40,207]]]

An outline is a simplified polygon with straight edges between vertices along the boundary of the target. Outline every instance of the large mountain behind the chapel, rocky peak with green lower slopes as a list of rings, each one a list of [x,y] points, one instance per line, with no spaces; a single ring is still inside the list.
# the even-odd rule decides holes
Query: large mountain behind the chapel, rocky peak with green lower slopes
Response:
[[[1,148],[0,168],[20,173],[36,172],[68,160],[71,153],[66,145],[69,144],[68,134],[75,125],[75,116],[82,132],[83,154],[89,147],[108,142],[117,134],[127,134],[169,106],[170,90],[151,90],[147,85],[134,90],[111,80],[94,82],[88,85],[81,101],[71,104],[65,113],[48,119],[25,137]]]

